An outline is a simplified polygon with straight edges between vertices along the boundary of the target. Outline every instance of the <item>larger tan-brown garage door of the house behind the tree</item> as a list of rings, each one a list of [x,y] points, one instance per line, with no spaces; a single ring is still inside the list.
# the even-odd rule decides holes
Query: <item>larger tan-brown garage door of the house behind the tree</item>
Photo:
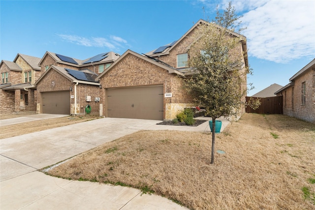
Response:
[[[108,89],[108,117],[163,120],[163,86]]]

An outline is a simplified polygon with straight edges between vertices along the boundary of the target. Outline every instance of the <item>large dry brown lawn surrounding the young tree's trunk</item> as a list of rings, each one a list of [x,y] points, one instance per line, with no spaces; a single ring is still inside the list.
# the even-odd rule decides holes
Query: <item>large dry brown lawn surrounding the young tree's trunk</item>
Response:
[[[189,209],[315,209],[315,124],[245,114],[211,135],[139,131],[82,153],[48,173],[152,191]]]

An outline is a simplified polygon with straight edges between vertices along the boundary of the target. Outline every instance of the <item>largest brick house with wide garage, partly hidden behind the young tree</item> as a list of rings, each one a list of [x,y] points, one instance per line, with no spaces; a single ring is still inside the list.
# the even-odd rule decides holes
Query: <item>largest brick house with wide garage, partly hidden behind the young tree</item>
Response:
[[[198,21],[179,40],[141,56],[126,51],[96,80],[102,86],[103,115],[105,117],[172,120],[193,101],[182,87],[188,72],[186,61],[193,43],[192,34]],[[231,32],[235,36],[241,36]],[[244,55],[242,69],[248,67],[246,37],[241,36],[239,53]],[[246,83],[242,87],[247,88]],[[132,95],[132,97],[130,96]],[[245,96],[242,98],[245,101]],[[245,108],[241,110],[245,112]],[[153,114],[156,113],[156,114]]]

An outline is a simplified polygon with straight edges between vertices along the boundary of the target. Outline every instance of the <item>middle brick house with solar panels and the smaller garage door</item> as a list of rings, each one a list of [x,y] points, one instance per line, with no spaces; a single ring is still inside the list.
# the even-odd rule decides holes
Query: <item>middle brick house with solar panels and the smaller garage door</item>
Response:
[[[89,105],[92,113],[98,115],[100,88],[95,78],[119,57],[120,55],[109,52],[78,60],[46,52],[38,64],[42,76],[35,83],[37,113],[84,114]],[[50,106],[53,101],[58,103]]]

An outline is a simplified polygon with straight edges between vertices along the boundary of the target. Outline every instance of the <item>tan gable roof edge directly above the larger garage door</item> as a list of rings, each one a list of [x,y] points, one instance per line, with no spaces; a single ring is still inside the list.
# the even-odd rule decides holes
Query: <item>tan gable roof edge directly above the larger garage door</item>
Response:
[[[133,56],[136,56],[140,59],[143,59],[143,60],[146,60],[152,64],[155,64],[161,68],[164,68],[165,70],[168,71],[168,73],[174,73],[174,74],[178,74],[178,75],[181,75],[181,76],[184,76],[183,73],[177,71],[176,69],[172,68],[172,67],[169,67],[168,65],[165,65],[165,63],[161,63],[161,62],[158,62],[157,59],[150,59],[148,57],[145,57],[145,56],[142,56],[138,53],[135,53],[131,50],[127,50],[119,59],[117,59],[111,66],[109,66],[108,68],[105,69],[105,71],[103,71],[100,75],[98,75],[96,77],[96,81],[98,81],[106,72],[110,71],[110,69],[112,69],[115,65],[117,65],[121,60],[123,60],[128,54],[131,54]]]

